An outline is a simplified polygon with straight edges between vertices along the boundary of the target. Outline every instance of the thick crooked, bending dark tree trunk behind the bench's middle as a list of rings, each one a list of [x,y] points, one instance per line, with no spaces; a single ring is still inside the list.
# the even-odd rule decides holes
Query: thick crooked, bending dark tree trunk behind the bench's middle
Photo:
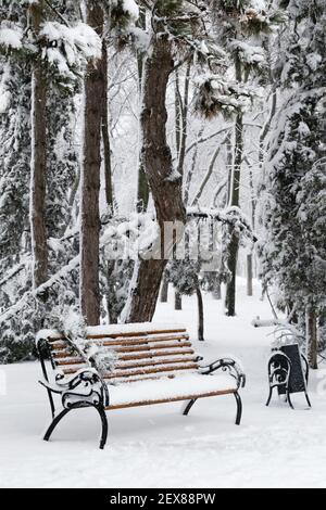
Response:
[[[161,239],[156,240],[154,248],[156,258],[139,260],[136,265],[131,302],[124,314],[124,319],[129,322],[150,321],[153,317],[167,263],[161,250],[164,224],[179,221],[184,226],[186,222],[181,179],[173,176],[172,155],[166,141],[165,97],[173,67],[172,42],[167,37],[152,35],[152,51],[147,55],[143,66],[142,162],[155,205]],[[168,242],[167,252],[172,248],[173,243]]]

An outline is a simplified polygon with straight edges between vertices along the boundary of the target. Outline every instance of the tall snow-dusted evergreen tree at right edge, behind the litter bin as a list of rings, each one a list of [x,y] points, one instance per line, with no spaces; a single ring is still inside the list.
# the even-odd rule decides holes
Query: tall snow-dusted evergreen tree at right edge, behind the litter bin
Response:
[[[269,139],[262,272],[266,284],[278,288],[279,306],[294,307],[305,323],[309,362],[316,368],[317,320],[326,304],[326,3],[290,1],[287,11],[284,101]]]

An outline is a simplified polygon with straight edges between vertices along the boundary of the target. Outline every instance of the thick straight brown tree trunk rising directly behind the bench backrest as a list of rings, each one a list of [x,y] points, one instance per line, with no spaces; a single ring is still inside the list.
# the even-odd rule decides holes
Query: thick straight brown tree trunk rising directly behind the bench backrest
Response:
[[[87,23],[101,36],[103,11],[92,3]],[[89,326],[100,322],[99,290],[99,193],[101,168],[101,124],[104,110],[103,63],[88,64],[85,79],[84,161],[82,170],[80,211],[80,303]]]

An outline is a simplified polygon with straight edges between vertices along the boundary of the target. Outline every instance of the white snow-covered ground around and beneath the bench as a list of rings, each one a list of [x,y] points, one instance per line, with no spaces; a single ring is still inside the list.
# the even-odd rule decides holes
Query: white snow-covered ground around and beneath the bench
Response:
[[[98,416],[78,410],[46,443],[41,433],[50,415],[37,384],[39,364],[0,367],[0,381],[7,380],[4,395],[0,386],[0,486],[325,487],[326,394],[315,390],[322,371],[311,378],[312,410],[300,394],[294,411],[276,400],[265,407],[272,329],[250,324],[253,317],[271,317],[259,296],[256,286],[254,297],[247,297],[240,281],[236,318],[206,296],[206,341],[197,343],[208,361],[225,354],[242,360],[240,426],[234,424],[234,397],[220,396],[198,401],[188,417],[180,415],[180,403],[112,411],[104,450],[98,449]],[[185,322],[193,339],[196,299],[185,298],[183,311],[160,304],[155,319]]]

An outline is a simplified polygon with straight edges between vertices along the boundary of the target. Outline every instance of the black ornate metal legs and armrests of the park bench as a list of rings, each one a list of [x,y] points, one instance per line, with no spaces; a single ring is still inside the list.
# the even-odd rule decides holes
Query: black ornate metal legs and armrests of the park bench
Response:
[[[70,344],[76,350],[79,350],[78,347],[68,340]],[[108,438],[108,418],[105,413],[105,409],[110,406],[110,391],[108,388],[108,384],[104,382],[100,373],[98,372],[95,366],[91,366],[91,360],[88,360],[90,364],[89,369],[80,369],[79,371],[75,372],[71,377],[63,375],[61,373],[57,373],[54,378],[54,382],[50,382],[46,360],[50,360],[52,369],[57,371],[55,364],[51,356],[51,349],[49,343],[46,339],[39,339],[37,341],[37,352],[39,355],[39,360],[41,364],[41,370],[43,374],[43,380],[40,380],[39,383],[46,387],[47,394],[49,397],[52,421],[49,428],[46,431],[43,436],[45,441],[49,441],[52,432],[54,431],[58,423],[73,409],[80,409],[86,407],[93,407],[101,419],[102,431],[101,431],[101,438],[100,438],[100,448],[103,449]],[[80,353],[80,350],[79,350]],[[202,359],[199,357],[199,359]],[[236,413],[236,424],[239,425],[241,422],[242,416],[242,403],[238,390],[240,387],[244,387],[246,385],[246,375],[240,369],[239,365],[230,358],[222,358],[218,359],[208,366],[200,367],[200,373],[203,375],[212,374],[217,370],[227,371],[235,380],[237,384],[237,390],[233,392],[236,399],[237,405],[237,413]],[[216,396],[220,394],[225,394],[216,392]],[[61,404],[62,408],[57,411],[53,394],[58,394],[61,396]],[[196,396],[195,398],[190,398],[183,411],[184,416],[187,416],[192,408],[193,404],[204,396],[215,396],[215,395],[202,395]],[[175,401],[175,400],[184,400],[184,398],[175,398],[166,399],[165,403]],[[155,404],[155,401],[149,401],[148,405]]]

